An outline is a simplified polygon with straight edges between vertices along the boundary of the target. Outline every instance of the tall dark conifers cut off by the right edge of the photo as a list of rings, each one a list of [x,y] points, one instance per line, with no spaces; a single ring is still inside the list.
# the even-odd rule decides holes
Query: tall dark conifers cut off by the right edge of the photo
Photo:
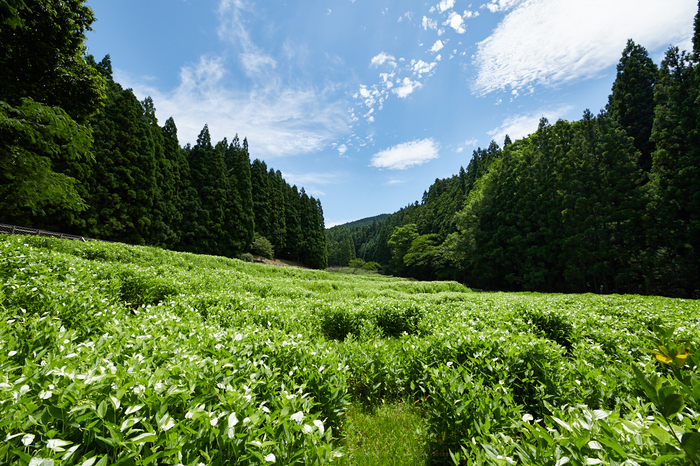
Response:
[[[699,97],[700,64],[670,48],[655,88],[649,244],[651,290],[676,296],[700,295]]]

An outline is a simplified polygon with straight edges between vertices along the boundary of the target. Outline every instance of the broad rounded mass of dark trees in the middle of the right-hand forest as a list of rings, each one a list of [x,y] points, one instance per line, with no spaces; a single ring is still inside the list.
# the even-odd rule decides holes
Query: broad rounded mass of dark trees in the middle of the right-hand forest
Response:
[[[509,146],[459,215],[479,286],[631,290],[643,206],[637,152],[614,122],[542,121]]]

